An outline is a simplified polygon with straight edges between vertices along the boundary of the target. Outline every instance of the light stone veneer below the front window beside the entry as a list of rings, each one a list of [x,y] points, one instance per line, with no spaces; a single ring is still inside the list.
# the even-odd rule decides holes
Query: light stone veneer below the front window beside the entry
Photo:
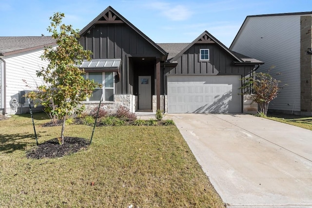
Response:
[[[99,102],[85,103],[85,112],[90,113],[91,110],[98,107]],[[137,96],[136,95],[114,95],[114,101],[101,102],[101,108],[108,113],[115,113],[119,106],[125,106],[131,113],[137,111]]]

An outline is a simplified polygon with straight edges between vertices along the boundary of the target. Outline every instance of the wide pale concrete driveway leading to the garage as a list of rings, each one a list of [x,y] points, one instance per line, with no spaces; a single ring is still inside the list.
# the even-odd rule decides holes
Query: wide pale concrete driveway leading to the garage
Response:
[[[169,116],[229,208],[312,207],[312,131],[247,114]]]

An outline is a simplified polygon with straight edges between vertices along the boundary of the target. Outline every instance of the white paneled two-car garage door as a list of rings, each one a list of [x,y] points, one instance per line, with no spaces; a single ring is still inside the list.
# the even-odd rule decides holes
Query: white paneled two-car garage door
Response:
[[[167,76],[168,113],[241,113],[240,76]]]

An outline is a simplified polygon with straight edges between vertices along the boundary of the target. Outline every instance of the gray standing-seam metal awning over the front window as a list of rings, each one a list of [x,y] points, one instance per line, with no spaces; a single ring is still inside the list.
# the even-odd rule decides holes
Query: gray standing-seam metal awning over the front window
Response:
[[[93,59],[91,61],[84,60],[78,68],[84,69],[85,72],[118,72],[120,64],[120,58]]]

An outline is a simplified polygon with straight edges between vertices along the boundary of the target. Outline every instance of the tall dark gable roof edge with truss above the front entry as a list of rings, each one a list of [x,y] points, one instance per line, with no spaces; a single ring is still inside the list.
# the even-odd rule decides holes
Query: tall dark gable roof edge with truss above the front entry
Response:
[[[148,41],[152,46],[156,48],[161,54],[165,56],[164,59],[167,58],[167,52],[163,50],[160,46],[158,46],[152,39],[147,37],[144,33],[142,33],[136,26],[134,26],[130,21],[125,19],[122,15],[120,15],[113,7],[108,6],[101,14],[98,15],[95,19],[93,19],[89,24],[87,24],[80,32],[79,35],[82,36],[85,34],[92,26],[100,23],[125,23],[131,29],[136,31],[142,38]]]

